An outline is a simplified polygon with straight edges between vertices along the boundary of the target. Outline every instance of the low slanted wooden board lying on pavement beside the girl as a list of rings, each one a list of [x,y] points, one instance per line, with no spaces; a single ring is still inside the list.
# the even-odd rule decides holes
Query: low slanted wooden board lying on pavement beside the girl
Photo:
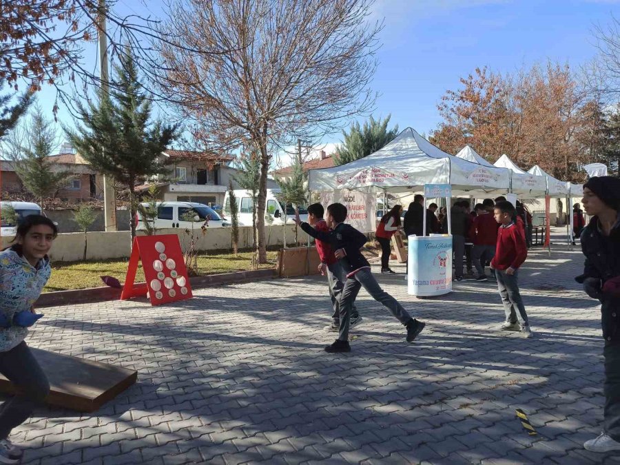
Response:
[[[125,391],[138,372],[92,360],[30,347],[48,376],[51,391],[46,403],[80,412],[93,412]],[[25,368],[24,368],[25,369]],[[0,375],[0,392],[14,393],[14,386]]]

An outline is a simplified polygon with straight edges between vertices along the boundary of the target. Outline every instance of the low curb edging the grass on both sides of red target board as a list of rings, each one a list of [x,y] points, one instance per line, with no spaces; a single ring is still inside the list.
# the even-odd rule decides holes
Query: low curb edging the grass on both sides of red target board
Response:
[[[234,282],[248,280],[264,280],[276,278],[275,269],[258,269],[254,271],[237,271],[236,273],[212,274],[208,276],[194,276],[189,278],[192,289],[215,285],[227,285]],[[72,291],[45,292],[41,294],[35,307],[58,307],[71,304],[89,304],[93,302],[105,302],[121,298],[121,289],[113,287],[93,287],[90,289],[75,289]]]

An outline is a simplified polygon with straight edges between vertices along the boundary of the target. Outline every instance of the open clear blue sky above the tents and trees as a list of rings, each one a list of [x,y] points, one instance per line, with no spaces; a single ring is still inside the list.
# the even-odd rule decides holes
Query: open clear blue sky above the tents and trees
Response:
[[[148,10],[161,14],[161,2]],[[143,13],[143,0],[120,0],[116,8]],[[392,115],[391,123],[418,132],[432,132],[440,115],[437,103],[459,77],[488,65],[513,72],[522,65],[552,61],[577,68],[596,54],[592,30],[620,15],[620,0],[377,0],[373,18],[385,18],[378,52],[380,66],[372,83],[380,93],[376,116]],[[96,54],[96,46],[90,47]],[[54,92],[40,96],[44,108]],[[61,108],[59,118],[70,118]],[[328,152],[340,134],[324,139]],[[283,161],[285,163],[285,161]]]

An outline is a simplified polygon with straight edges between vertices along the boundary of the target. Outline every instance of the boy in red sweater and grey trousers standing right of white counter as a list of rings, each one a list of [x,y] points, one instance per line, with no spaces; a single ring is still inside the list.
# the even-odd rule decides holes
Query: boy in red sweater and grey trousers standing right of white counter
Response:
[[[491,260],[491,269],[495,269],[497,289],[504,303],[506,321],[502,324],[504,331],[519,331],[526,338],[533,336],[530,330],[528,314],[525,311],[521,293],[519,293],[519,267],[528,256],[524,231],[514,221],[515,207],[510,202],[498,202],[494,209],[495,221],[499,223],[495,257]]]

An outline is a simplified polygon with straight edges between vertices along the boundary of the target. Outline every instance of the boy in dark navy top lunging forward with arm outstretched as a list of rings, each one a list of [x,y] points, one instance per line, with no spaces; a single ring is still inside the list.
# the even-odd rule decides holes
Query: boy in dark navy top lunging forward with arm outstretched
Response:
[[[389,309],[407,329],[406,340],[413,342],[416,336],[424,329],[425,324],[411,318],[409,313],[397,302],[395,298],[381,289],[370,270],[368,260],[362,255],[360,249],[366,243],[366,236],[351,225],[344,224],[347,219],[347,207],[341,203],[333,203],[327,207],[327,225],[331,227],[329,233],[317,231],[308,223],[302,223],[299,215],[296,223],[301,226],[303,231],[313,238],[324,240],[330,243],[334,250],[334,255],[347,273],[347,281],[344,283],[342,297],[340,298],[340,331],[338,339],[333,344],[325,347],[327,352],[350,352],[349,345],[349,318],[351,307],[358,296],[360,288],[366,291],[384,307]]]

